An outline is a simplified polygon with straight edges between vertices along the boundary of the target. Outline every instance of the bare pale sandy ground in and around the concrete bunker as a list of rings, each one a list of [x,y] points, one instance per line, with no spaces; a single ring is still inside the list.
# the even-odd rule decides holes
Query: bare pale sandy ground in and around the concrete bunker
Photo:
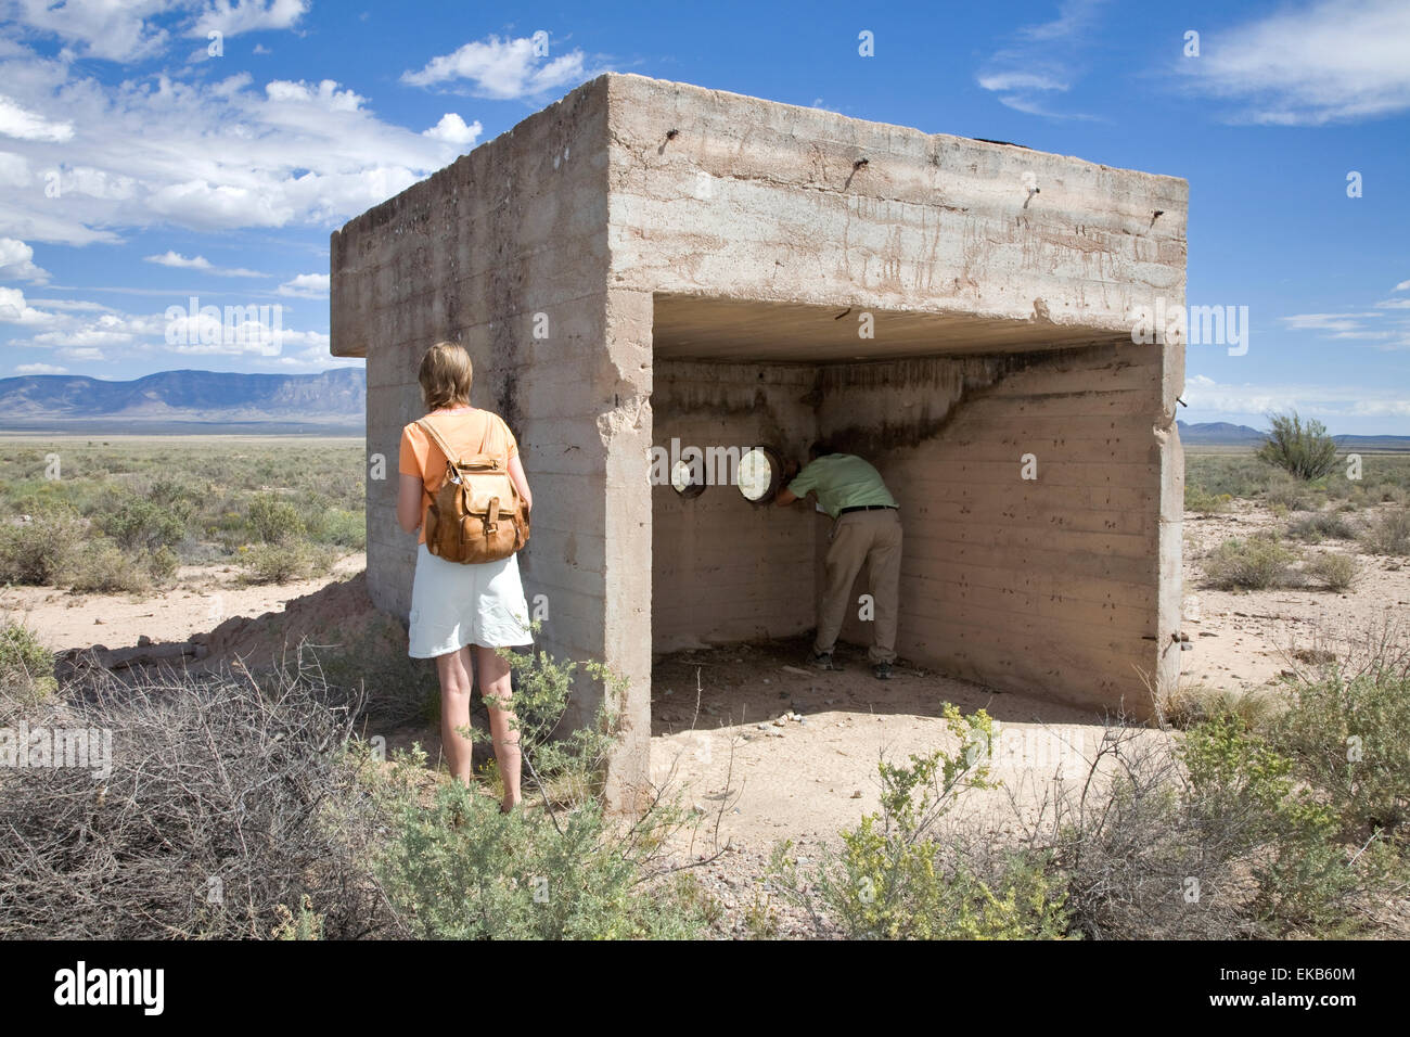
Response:
[[[1258,689],[1299,663],[1299,648],[1338,649],[1386,617],[1410,611],[1410,567],[1358,556],[1362,577],[1345,594],[1318,590],[1225,593],[1204,588],[1201,559],[1230,536],[1286,525],[1246,502],[1213,518],[1186,516],[1184,680]],[[1304,547],[1354,550],[1347,542]],[[343,559],[334,577],[282,587],[245,587],[228,570],[188,570],[180,588],[157,597],[70,595],[49,588],[0,591],[0,614],[24,619],[55,650],[195,638],[210,662],[274,652],[299,633],[357,638],[375,614],[360,578],[362,556]],[[378,629],[385,629],[385,621]],[[804,639],[681,652],[658,659],[651,687],[653,780],[680,789],[698,814],[673,842],[680,862],[701,862],[705,887],[726,907],[721,935],[740,931],[761,889],[770,849],[792,839],[805,858],[836,845],[839,830],[878,808],[877,760],[904,759],[945,744],[940,710],[984,708],[998,721],[994,773],[1004,790],[970,793],[960,814],[1010,827],[1014,813],[1042,799],[1055,775],[1074,776],[1100,745],[1101,717],[1038,697],[1000,694],[908,665],[895,677],[871,676],[862,649],[839,648],[840,672],[804,665]],[[1159,732],[1152,736],[1162,738]],[[433,728],[396,732],[439,756]],[[1014,793],[1012,799],[1010,793]],[[1025,807],[1026,804],[1026,807]],[[780,935],[802,918],[774,902]]]

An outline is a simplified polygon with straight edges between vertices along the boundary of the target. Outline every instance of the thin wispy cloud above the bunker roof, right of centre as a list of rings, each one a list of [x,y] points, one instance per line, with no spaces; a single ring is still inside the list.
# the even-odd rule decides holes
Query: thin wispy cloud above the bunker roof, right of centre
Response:
[[[1076,111],[1055,111],[1048,99],[1065,93],[1080,78],[1076,55],[1104,3],[1063,0],[1055,20],[1018,27],[1017,40],[990,55],[976,82],[1015,111],[1048,119],[1093,119]]]

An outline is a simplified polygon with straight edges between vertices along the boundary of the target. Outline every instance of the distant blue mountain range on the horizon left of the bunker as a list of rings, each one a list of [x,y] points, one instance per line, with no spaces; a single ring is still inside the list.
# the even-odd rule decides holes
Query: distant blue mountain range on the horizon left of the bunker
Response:
[[[10,432],[364,430],[367,372],[161,371],[134,381],[39,374],[0,378],[0,429]]]

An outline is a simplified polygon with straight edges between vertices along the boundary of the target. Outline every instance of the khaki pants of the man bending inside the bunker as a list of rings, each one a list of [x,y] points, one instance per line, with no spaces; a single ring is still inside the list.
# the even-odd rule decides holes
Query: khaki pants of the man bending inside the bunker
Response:
[[[876,615],[873,643],[867,656],[873,663],[895,660],[897,598],[901,586],[901,518],[894,508],[853,511],[832,523],[828,545],[826,583],[818,602],[818,639],[814,652],[830,652],[842,631],[842,621],[853,607],[852,584],[867,563]]]

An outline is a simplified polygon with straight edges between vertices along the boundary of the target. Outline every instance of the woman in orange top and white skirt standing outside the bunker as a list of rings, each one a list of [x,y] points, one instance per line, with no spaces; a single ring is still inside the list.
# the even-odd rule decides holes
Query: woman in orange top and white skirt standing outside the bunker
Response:
[[[533,497],[513,433],[499,415],[470,405],[474,378],[470,354],[455,343],[436,343],[422,358],[417,378],[426,418],[447,446],[462,457],[482,453],[506,461],[525,507],[532,509]],[[471,742],[457,728],[470,727],[474,687],[470,649],[475,649],[479,694],[489,708],[489,734],[505,783],[499,810],[509,813],[519,803],[519,732],[512,729],[513,712],[498,705],[509,697],[509,660],[495,649],[533,643],[519,562],[510,554],[501,562],[461,564],[426,549],[426,511],[446,477],[446,454],[416,422],[402,429],[399,470],[396,521],[407,533],[419,533],[407,653],[413,659],[436,659],[441,744],[451,776],[470,784]]]

